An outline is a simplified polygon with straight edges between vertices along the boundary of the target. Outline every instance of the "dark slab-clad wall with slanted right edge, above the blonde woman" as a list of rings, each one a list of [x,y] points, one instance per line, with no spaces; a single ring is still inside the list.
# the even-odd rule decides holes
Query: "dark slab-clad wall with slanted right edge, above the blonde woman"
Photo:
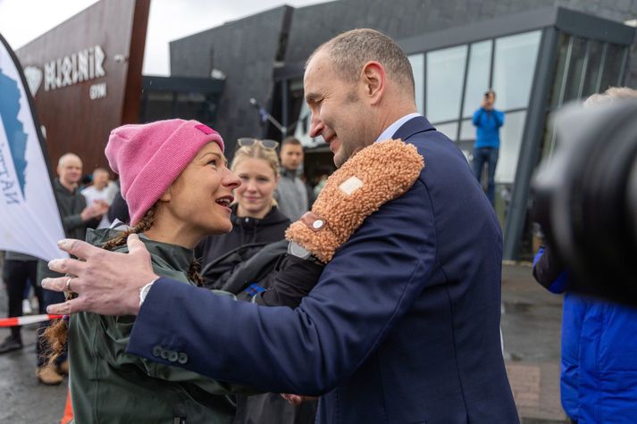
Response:
[[[238,137],[263,133],[249,99],[267,106],[272,96],[272,70],[291,12],[291,7],[281,6],[170,44],[172,76],[210,77],[213,68],[225,74],[215,129],[230,153]]]

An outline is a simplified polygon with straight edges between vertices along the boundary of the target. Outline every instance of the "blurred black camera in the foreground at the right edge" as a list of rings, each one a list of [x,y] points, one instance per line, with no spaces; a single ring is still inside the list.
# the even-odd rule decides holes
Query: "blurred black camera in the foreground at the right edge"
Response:
[[[569,289],[637,305],[637,101],[557,112],[557,148],[533,180],[533,214]]]

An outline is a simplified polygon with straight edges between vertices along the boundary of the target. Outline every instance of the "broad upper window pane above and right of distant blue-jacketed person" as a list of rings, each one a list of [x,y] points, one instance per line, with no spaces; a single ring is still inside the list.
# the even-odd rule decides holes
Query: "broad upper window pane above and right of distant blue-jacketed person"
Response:
[[[529,104],[541,31],[496,39],[493,90],[496,107],[517,109]]]

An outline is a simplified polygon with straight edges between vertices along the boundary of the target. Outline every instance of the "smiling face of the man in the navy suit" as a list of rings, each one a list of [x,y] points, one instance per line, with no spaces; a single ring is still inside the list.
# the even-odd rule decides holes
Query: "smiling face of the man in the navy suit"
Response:
[[[340,167],[358,149],[375,141],[367,125],[370,116],[361,100],[361,85],[349,83],[333,71],[328,54],[318,52],[308,63],[303,81],[312,112],[310,137],[321,136],[330,145],[334,164]]]

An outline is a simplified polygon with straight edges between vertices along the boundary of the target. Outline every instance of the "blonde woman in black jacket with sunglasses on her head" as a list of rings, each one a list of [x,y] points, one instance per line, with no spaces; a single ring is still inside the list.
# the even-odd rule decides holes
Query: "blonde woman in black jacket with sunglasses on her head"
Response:
[[[197,257],[202,258],[205,286],[222,288],[222,278],[211,280],[211,274],[220,275],[239,262],[261,251],[265,245],[281,241],[289,227],[289,219],[279,211],[273,198],[279,182],[279,158],[273,140],[239,138],[238,150],[230,165],[241,179],[234,190],[232,204],[232,230],[228,234],[209,236],[197,246]],[[227,288],[227,287],[225,287]],[[314,423],[316,401],[298,406],[287,403],[278,394],[237,396],[237,415],[233,423]]]

